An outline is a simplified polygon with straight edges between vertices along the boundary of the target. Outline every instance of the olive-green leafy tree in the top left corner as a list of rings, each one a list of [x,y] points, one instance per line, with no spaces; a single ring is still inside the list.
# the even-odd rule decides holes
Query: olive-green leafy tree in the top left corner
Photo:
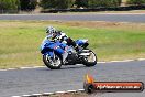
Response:
[[[15,13],[19,9],[19,0],[0,0],[0,13]]]

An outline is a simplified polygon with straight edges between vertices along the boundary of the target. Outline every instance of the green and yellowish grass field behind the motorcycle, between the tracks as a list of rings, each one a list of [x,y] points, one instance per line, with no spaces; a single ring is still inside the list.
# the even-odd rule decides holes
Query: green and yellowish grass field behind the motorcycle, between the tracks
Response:
[[[145,30],[140,26],[86,28],[52,21],[0,21],[0,68],[43,65],[38,48],[49,24],[75,40],[88,39],[99,61],[145,57]]]

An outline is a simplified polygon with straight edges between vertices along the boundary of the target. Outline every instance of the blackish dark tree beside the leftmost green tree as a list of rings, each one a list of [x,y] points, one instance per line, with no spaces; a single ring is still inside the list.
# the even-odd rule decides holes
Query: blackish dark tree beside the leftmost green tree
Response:
[[[37,6],[37,0],[20,0],[21,10],[32,11]]]

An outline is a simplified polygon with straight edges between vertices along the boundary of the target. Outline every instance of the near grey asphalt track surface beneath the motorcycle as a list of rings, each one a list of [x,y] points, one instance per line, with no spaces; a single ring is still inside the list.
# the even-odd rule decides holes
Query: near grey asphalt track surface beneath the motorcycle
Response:
[[[47,67],[0,71],[0,97],[80,89],[87,73],[98,82],[145,83],[145,61],[98,63],[93,67],[63,66],[55,71]],[[145,97],[145,91],[104,93],[96,97]]]

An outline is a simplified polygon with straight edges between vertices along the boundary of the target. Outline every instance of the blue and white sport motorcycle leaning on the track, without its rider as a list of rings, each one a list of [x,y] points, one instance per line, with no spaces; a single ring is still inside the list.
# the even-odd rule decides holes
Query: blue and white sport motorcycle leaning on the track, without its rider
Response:
[[[89,45],[88,40],[77,40],[76,44],[79,51],[59,41],[43,41],[41,44],[41,53],[44,64],[51,69],[58,69],[62,65],[76,64],[83,64],[87,67],[94,66],[97,64],[97,55],[90,48],[87,48]],[[63,61],[64,52],[67,52],[65,61]]]

